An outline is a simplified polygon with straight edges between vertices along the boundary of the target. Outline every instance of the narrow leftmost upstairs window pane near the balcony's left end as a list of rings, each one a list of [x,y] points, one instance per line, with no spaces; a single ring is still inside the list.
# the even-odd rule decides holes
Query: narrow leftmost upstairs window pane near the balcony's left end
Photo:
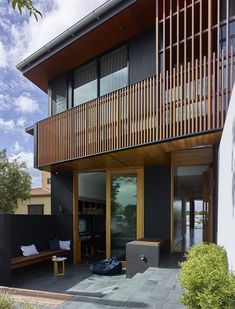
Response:
[[[51,86],[52,113],[61,113],[67,109],[67,76],[61,76]]]

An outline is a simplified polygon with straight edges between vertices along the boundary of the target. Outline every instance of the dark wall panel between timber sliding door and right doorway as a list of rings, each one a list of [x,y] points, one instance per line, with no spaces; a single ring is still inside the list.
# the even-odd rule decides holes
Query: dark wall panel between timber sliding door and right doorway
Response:
[[[170,166],[144,169],[144,235],[170,239]]]

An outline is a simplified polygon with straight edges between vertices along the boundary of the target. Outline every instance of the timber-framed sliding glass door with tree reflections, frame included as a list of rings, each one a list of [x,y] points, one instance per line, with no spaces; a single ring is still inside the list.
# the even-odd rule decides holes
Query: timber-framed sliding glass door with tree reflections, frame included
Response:
[[[107,175],[107,256],[126,259],[126,243],[143,237],[143,172],[112,171]]]

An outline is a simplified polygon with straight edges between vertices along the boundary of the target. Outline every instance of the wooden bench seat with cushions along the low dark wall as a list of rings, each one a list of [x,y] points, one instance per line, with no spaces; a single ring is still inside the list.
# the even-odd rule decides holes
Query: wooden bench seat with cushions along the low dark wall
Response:
[[[68,250],[47,250],[30,256],[14,257],[11,259],[11,269],[17,269],[24,266],[48,261],[52,258],[53,255],[63,256],[67,255],[69,252],[70,251]]]

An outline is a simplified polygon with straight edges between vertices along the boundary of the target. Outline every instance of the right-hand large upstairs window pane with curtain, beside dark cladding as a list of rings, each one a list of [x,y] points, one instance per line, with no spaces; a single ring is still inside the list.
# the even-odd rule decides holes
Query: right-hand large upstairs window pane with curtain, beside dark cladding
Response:
[[[127,47],[123,46],[100,59],[100,95],[127,85]]]

